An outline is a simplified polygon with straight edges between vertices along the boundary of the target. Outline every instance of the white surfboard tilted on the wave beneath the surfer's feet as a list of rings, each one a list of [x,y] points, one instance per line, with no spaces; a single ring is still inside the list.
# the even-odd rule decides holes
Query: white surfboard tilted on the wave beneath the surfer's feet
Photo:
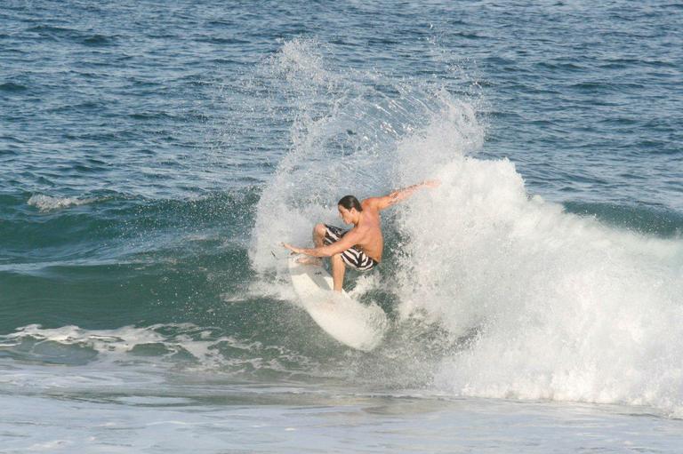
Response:
[[[297,263],[289,258],[294,291],[301,306],[327,334],[346,346],[369,352],[382,342],[387,315],[377,306],[364,306],[346,291],[332,291],[332,276],[319,265]]]

